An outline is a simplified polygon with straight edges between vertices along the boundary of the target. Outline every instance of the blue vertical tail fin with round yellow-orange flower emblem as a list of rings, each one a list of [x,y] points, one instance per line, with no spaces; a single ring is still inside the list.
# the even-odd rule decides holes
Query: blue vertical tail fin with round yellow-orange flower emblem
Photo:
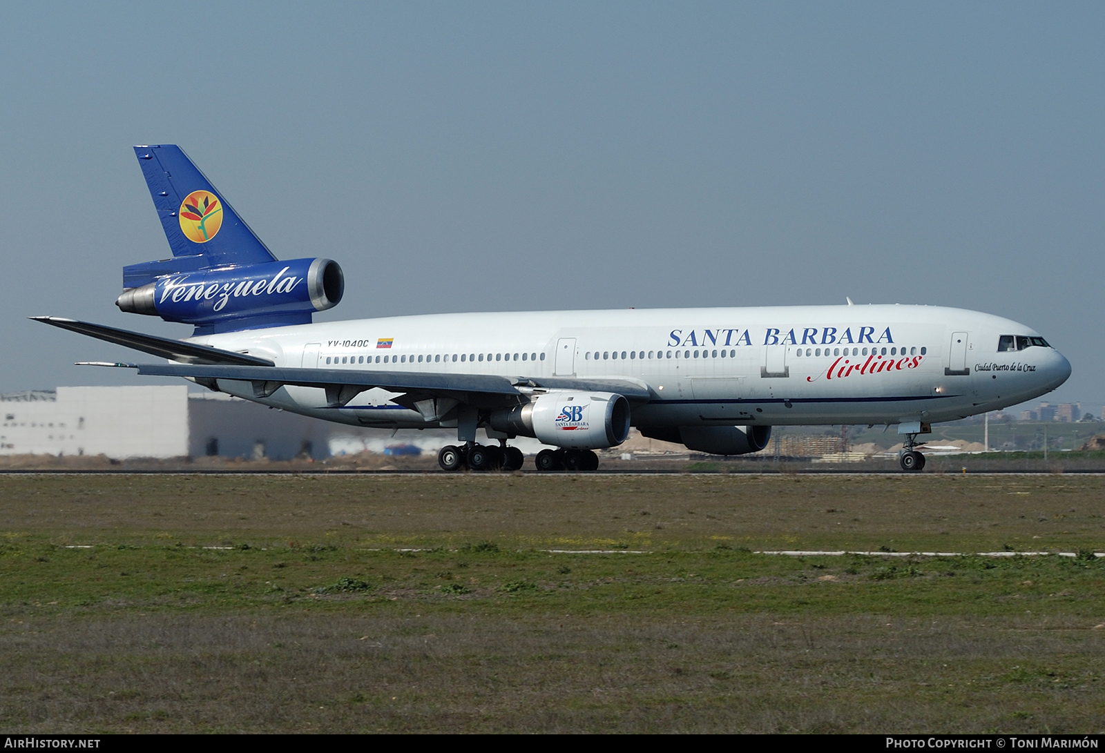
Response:
[[[173,258],[124,267],[124,287],[175,272],[276,261],[180,147],[139,146],[135,155]]]

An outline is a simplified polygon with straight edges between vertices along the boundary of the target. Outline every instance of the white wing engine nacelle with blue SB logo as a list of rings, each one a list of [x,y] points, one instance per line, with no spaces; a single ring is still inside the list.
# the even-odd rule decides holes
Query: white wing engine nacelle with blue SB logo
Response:
[[[552,390],[525,405],[491,414],[496,432],[532,436],[544,444],[576,449],[602,449],[625,442],[630,409],[611,392]]]

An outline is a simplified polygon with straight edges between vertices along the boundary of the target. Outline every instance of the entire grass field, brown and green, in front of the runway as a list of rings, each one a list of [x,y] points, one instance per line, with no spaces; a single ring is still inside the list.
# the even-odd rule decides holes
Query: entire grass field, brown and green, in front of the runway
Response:
[[[1099,732],[1103,491],[0,476],[0,728]]]

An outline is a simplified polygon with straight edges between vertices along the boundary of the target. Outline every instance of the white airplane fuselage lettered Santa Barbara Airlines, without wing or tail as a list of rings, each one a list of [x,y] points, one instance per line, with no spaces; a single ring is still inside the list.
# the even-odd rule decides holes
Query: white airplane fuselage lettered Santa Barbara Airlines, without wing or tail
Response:
[[[322,322],[194,338],[278,367],[630,380],[649,390],[636,426],[898,424],[951,421],[1031,400],[1062,384],[1048,346],[1009,319],[930,306],[792,306],[449,314]],[[379,389],[327,407],[320,388],[255,399],[362,426],[442,425]],[[446,424],[448,425],[448,424]],[[455,424],[453,424],[455,425]]]

